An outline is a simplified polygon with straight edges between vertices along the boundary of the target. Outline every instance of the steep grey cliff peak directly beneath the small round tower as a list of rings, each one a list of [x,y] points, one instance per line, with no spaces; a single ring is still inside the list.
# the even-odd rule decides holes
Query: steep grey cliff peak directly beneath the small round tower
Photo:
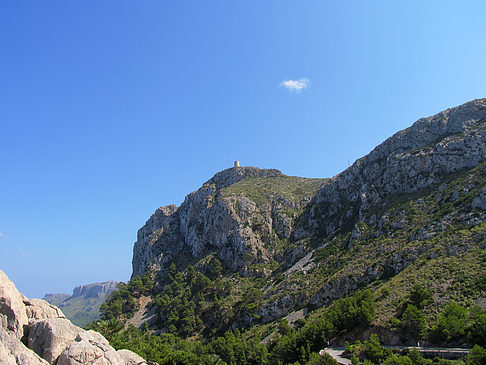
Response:
[[[285,189],[261,195],[268,181]],[[216,251],[232,271],[269,262],[279,253],[275,242],[290,236],[293,219],[322,183],[256,167],[221,171],[179,208],[157,209],[138,231],[133,276],[147,269],[160,271],[182,251],[192,257]],[[287,185],[295,189],[288,190]]]

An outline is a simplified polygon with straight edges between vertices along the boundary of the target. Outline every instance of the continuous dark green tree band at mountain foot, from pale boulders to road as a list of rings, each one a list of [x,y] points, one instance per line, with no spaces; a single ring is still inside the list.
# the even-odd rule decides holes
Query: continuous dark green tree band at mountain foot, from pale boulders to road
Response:
[[[318,364],[333,363],[318,355],[326,341],[339,332],[368,326],[373,317],[373,293],[364,291],[336,301],[329,307],[326,318],[309,323],[301,321],[298,329],[280,321],[278,334],[268,346],[263,345],[259,337],[238,329],[218,337],[184,340],[172,333],[156,336],[148,327],[124,330],[123,324],[115,318],[95,322],[90,328],[104,334],[115,348],[130,348],[159,364],[199,364],[206,363],[206,358],[220,358],[227,364]]]

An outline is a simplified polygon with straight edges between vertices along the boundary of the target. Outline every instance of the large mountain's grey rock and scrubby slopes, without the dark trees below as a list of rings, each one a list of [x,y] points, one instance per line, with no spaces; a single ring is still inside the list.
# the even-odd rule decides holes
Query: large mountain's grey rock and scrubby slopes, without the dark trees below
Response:
[[[404,277],[431,285],[424,278],[438,275],[436,305],[462,291],[481,304],[486,294],[474,280],[483,280],[485,144],[486,99],[478,99],[420,119],[329,180],[224,170],[139,230],[133,277],[149,270],[158,295],[171,264],[184,277],[188,265],[206,273],[217,257],[221,286],[232,288],[221,328],[310,312],[366,287],[396,291],[394,309],[382,308],[385,323],[410,289]],[[455,265],[447,273],[444,260]]]

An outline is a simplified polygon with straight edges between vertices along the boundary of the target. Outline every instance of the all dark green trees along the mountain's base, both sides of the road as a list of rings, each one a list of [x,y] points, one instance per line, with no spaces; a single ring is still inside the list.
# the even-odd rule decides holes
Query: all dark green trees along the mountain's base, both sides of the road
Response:
[[[219,336],[212,335],[212,332],[208,332],[208,335],[204,336],[203,331],[196,337],[189,337],[189,334],[193,334],[193,331],[197,329],[195,326],[202,322],[199,317],[200,312],[193,309],[197,308],[196,302],[200,301],[198,295],[200,291],[194,287],[194,294],[189,296],[183,290],[184,285],[180,284],[196,286],[196,283],[204,282],[207,285],[200,288],[203,288],[206,293],[212,293],[211,295],[214,295],[213,290],[216,290],[216,286],[209,285],[211,280],[206,276],[201,276],[204,274],[193,271],[194,269],[190,270],[193,273],[191,279],[187,275],[184,279],[181,272],[174,270],[172,267],[171,280],[166,285],[167,290],[164,290],[164,293],[156,299],[157,305],[161,305],[160,308],[164,308],[163,312],[168,313],[164,314],[167,319],[165,333],[156,335],[150,331],[148,326],[140,330],[133,326],[125,329],[123,323],[118,319],[123,318],[123,315],[118,318],[111,316],[115,313],[110,308],[111,304],[115,303],[115,307],[118,308],[120,298],[129,298],[120,292],[135,287],[138,288],[137,293],[140,293],[140,290],[143,291],[143,280],[138,279],[135,279],[135,283],[138,285],[128,283],[103,306],[103,317],[110,319],[94,322],[90,328],[100,331],[115,348],[129,348],[160,365],[332,364],[334,360],[331,358],[318,355],[319,351],[327,346],[328,341],[334,341],[340,335],[359,328],[369,328],[376,318],[377,298],[375,293],[368,289],[334,301],[330,306],[321,309],[317,318],[301,319],[293,326],[290,326],[286,320],[277,321],[266,329],[267,333],[273,333],[273,338],[266,344],[262,343],[262,338],[254,328],[243,332],[238,329],[228,330]],[[214,274],[218,272],[216,270]],[[206,279],[201,279],[203,277]],[[174,291],[175,289],[178,291]],[[172,293],[174,299],[169,300],[168,303],[160,302],[166,300],[169,293]],[[181,297],[182,299],[180,299]],[[176,298],[179,298],[182,304],[177,304]],[[420,285],[415,285],[408,295],[407,302],[404,303],[405,310],[397,318],[398,328],[415,340],[428,339],[431,342],[443,344],[459,339],[475,344],[474,351],[469,358],[464,360],[465,362],[440,360],[440,363],[480,364],[481,361],[484,363],[486,361],[484,350],[486,347],[486,311],[475,305],[463,307],[451,301],[443,307],[435,323],[428,323],[424,319],[422,310],[430,305],[432,300],[430,292]],[[173,306],[171,307],[171,305]],[[213,301],[210,308],[215,307]],[[178,313],[182,313],[182,315],[178,315]],[[204,326],[203,323],[200,323],[201,328]],[[375,364],[431,364],[438,361],[424,359],[416,352],[403,354],[383,348],[376,335],[372,335],[369,341],[356,342],[348,348],[348,351],[368,363]]]

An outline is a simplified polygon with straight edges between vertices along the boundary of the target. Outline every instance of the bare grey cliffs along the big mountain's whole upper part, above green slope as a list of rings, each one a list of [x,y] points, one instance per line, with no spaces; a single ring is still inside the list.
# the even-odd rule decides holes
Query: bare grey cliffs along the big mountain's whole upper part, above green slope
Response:
[[[184,250],[192,257],[216,251],[227,268],[245,272],[251,264],[278,261],[280,240],[322,238],[351,230],[360,221],[375,224],[374,212],[384,209],[390,197],[437,185],[485,159],[486,99],[478,99],[396,133],[329,182],[321,180],[315,196],[312,190],[290,198],[268,191],[264,202],[258,201],[250,188],[238,188],[247,182],[258,190],[264,181],[288,177],[278,170],[227,169],[189,194],[180,207],[157,209],[138,232],[133,276],[148,269],[160,272]],[[290,252],[296,256],[292,261],[304,254],[305,249]]]

